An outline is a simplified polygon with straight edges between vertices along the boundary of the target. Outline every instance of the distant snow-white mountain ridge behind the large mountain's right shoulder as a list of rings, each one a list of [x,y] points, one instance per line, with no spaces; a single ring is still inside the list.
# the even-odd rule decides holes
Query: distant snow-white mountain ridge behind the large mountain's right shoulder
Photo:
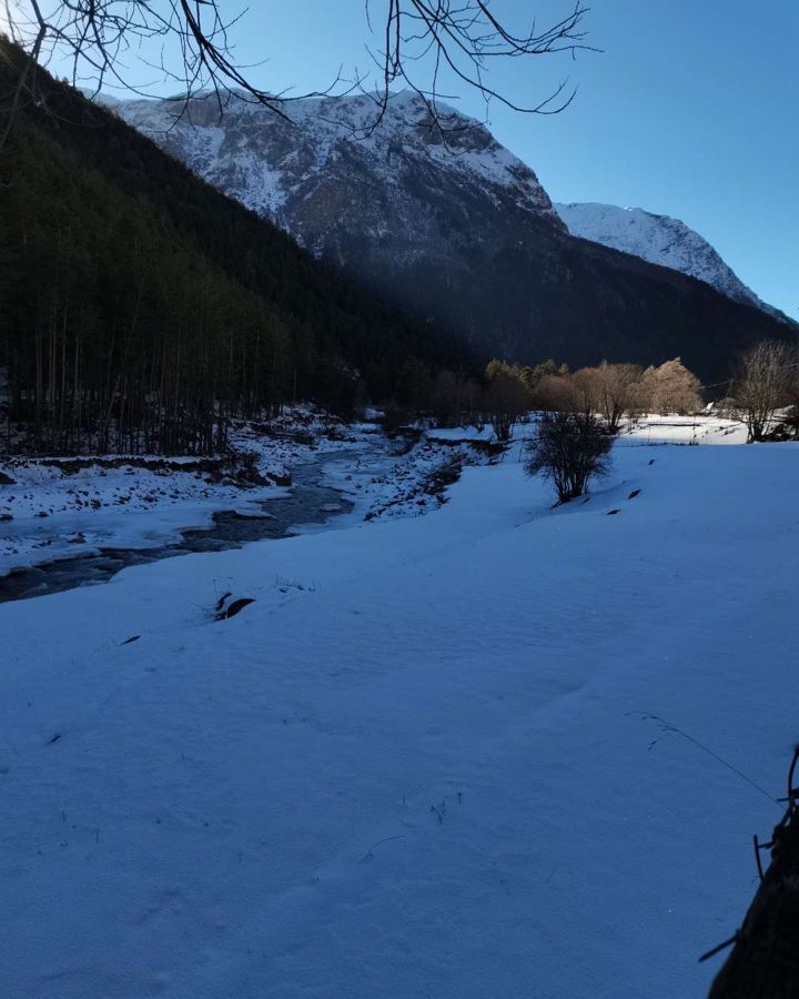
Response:
[[[556,204],[555,210],[572,235],[681,271],[706,282],[734,302],[755,305],[787,321],[787,316],[761,302],[744,284],[704,236],[679,219],[596,202]]]

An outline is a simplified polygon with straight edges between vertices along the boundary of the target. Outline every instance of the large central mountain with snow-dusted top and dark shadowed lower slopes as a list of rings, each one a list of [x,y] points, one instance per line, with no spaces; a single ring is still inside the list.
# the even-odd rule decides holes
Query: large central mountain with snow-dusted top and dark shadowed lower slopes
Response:
[[[185,113],[179,115],[176,108]],[[570,235],[533,171],[455,111],[446,130],[396,94],[292,102],[287,122],[231,98],[119,113],[243,204],[482,355],[572,365],[681,355],[706,380],[786,326],[705,282]]]

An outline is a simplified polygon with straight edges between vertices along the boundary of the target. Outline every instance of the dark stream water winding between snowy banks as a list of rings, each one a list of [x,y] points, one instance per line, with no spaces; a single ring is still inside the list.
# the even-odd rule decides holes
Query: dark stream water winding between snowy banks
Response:
[[[77,555],[29,568],[13,569],[0,576],[0,603],[42,596],[75,586],[107,583],[129,565],[143,565],[159,558],[185,555],[190,552],[221,552],[240,548],[252,541],[287,537],[292,527],[303,524],[324,524],[348,513],[352,503],[337,490],[322,485],[324,466],[354,452],[328,452],[293,470],[291,492],[261,502],[263,516],[240,515],[220,511],[213,525],[181,533],[180,541],[152,548],[102,548],[97,555]]]

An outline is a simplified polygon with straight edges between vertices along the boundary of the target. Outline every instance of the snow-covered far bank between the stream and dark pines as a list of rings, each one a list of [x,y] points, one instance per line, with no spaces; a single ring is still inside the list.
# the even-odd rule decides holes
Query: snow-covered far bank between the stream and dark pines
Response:
[[[275,436],[264,436],[240,421],[230,442],[241,453],[255,454],[257,471],[273,482],[316,453],[348,446],[318,414],[302,408],[287,411],[273,427]],[[350,444],[363,444],[366,431],[355,427]],[[158,547],[178,539],[181,531],[211,526],[215,511],[262,513],[264,501],[285,495],[279,485],[212,483],[208,472],[194,467],[201,461],[107,455],[82,458],[82,467],[69,458],[0,461],[0,576],[101,548]],[[3,484],[2,476],[11,483]]]

